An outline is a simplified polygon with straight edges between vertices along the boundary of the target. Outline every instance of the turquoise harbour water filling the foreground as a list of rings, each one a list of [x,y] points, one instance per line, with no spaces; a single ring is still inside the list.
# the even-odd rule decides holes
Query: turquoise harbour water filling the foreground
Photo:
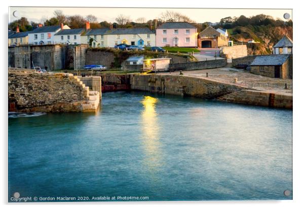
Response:
[[[9,118],[9,201],[292,199],[284,190],[289,110],[115,92],[96,114]]]

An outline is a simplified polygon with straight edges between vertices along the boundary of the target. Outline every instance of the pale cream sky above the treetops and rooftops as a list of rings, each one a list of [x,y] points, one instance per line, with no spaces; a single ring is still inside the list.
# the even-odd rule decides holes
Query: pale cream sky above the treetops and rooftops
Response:
[[[120,15],[130,16],[134,21],[139,17],[145,17],[146,20],[156,19],[162,12],[166,10],[179,12],[188,16],[195,22],[219,22],[224,17],[239,17],[245,15],[246,17],[265,14],[285,20],[283,15],[290,14],[292,19],[291,9],[180,9],[180,8],[72,8],[72,7],[10,7],[9,9],[10,22],[26,17],[29,21],[40,22],[43,16],[51,18],[55,10],[62,10],[67,16],[82,15],[86,16],[92,14],[98,18],[98,21],[116,22],[115,18]],[[18,17],[13,16],[13,12],[18,12]],[[16,14],[16,13],[15,13]]]

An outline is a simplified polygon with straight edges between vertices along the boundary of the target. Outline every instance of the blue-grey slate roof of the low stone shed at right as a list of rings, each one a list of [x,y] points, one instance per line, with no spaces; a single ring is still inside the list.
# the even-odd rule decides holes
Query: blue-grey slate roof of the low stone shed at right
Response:
[[[251,63],[253,65],[282,65],[289,57],[289,54],[273,54],[257,56]]]

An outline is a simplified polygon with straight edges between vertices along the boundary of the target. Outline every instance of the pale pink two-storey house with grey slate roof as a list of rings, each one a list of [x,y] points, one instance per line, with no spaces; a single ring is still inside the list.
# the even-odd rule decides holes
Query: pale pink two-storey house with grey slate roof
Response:
[[[197,47],[197,28],[187,22],[166,22],[156,29],[158,47]]]

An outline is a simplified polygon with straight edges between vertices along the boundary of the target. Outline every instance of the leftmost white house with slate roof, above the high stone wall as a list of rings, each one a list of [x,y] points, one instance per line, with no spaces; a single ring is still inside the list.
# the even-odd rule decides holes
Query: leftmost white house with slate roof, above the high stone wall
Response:
[[[56,44],[55,33],[61,29],[70,29],[67,25],[42,26],[28,31],[28,43],[32,45]]]

